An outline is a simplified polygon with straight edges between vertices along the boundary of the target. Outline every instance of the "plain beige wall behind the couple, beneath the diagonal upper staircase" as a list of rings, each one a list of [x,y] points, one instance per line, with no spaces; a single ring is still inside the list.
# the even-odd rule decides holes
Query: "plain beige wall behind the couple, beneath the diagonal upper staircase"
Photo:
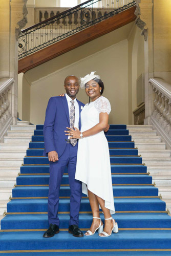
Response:
[[[107,97],[112,106],[110,123],[128,123],[128,43],[127,40],[106,48],[87,58],[73,63],[59,71],[54,72],[46,78],[34,82],[31,86],[31,122],[42,124],[45,120],[45,111],[51,96],[57,96],[65,92],[63,80],[67,75],[84,76],[91,71],[101,76],[105,91],[103,96]],[[44,74],[44,70],[41,70]],[[78,99],[84,103],[88,102],[88,96],[80,89]]]

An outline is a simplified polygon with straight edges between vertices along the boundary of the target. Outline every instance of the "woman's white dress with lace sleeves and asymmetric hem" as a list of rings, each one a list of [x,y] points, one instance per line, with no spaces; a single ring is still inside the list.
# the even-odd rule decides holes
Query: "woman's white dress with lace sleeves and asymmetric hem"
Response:
[[[101,112],[111,112],[110,102],[103,96],[86,104],[81,111],[81,132],[99,123]],[[79,139],[75,179],[82,181],[83,194],[88,195],[88,188],[105,201],[111,214],[115,213],[109,146],[103,131]]]

